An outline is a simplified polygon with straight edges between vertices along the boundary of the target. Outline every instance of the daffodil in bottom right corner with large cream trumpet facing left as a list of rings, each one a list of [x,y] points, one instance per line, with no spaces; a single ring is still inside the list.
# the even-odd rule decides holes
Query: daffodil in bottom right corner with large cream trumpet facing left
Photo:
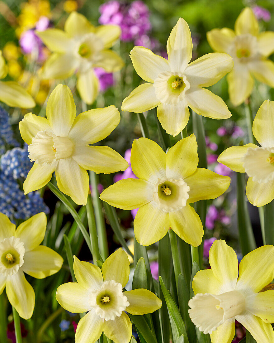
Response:
[[[264,291],[274,278],[274,247],[265,245],[240,262],[224,240],[215,240],[209,251],[212,269],[200,270],[189,300],[189,316],[212,343],[231,343],[235,319],[258,343],[274,342],[274,291]],[[239,273],[239,276],[238,276]]]

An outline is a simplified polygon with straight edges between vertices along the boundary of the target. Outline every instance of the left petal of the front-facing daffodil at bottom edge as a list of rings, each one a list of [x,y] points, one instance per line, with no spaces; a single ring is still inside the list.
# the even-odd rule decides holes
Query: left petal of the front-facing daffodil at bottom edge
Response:
[[[65,310],[72,313],[83,313],[91,309],[89,295],[89,289],[77,282],[68,282],[57,288],[56,299]]]

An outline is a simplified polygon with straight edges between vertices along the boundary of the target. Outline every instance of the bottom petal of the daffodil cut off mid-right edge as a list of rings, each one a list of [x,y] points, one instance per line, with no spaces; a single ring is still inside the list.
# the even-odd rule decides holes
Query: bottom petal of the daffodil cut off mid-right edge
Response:
[[[252,205],[264,206],[274,199],[274,181],[259,184],[259,182],[253,181],[249,177],[246,185],[246,195]]]

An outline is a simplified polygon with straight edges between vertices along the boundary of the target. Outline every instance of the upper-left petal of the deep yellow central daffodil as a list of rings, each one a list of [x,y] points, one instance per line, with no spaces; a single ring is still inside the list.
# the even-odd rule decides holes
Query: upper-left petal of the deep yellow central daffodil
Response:
[[[132,143],[130,162],[133,173],[139,178],[155,184],[166,178],[166,153],[154,141],[147,138],[135,139]]]

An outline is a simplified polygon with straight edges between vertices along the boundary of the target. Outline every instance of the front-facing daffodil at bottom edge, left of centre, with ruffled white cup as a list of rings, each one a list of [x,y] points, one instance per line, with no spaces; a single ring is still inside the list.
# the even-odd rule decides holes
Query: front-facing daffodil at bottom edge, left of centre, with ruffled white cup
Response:
[[[78,323],[76,343],[94,343],[102,332],[114,343],[128,343],[132,323],[125,311],[144,315],[162,306],[162,301],[148,289],[123,292],[128,282],[129,261],[122,248],[107,258],[102,270],[75,256],[73,269],[77,282],[59,286],[56,299],[67,311],[88,312]]]

